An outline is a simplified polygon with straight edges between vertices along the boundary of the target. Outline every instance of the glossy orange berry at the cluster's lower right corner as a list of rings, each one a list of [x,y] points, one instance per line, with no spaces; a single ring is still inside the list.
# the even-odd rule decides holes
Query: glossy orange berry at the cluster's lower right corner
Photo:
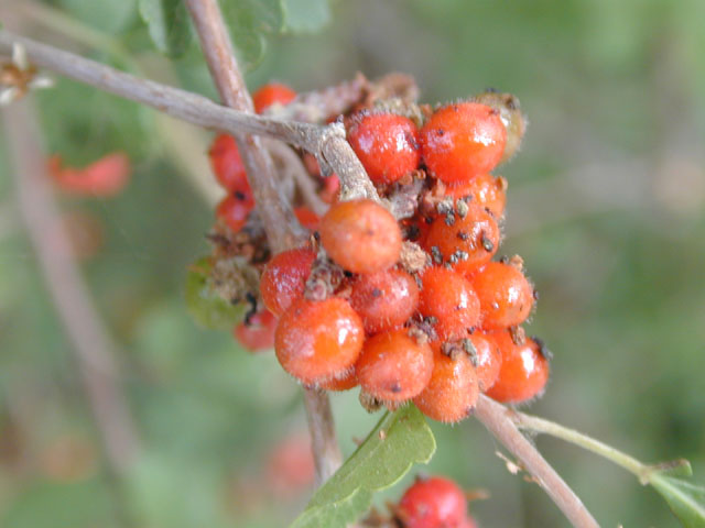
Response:
[[[491,334],[502,355],[502,365],[495,385],[487,395],[497,402],[519,404],[540,395],[549,381],[549,361],[541,345],[527,338],[516,344],[509,331]]]

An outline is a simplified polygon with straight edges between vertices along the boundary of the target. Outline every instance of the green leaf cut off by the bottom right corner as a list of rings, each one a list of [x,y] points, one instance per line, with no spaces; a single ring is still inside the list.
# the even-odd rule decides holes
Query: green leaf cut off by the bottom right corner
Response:
[[[705,527],[705,487],[668,472],[650,476],[649,483],[669,503],[671,510],[686,528]]]

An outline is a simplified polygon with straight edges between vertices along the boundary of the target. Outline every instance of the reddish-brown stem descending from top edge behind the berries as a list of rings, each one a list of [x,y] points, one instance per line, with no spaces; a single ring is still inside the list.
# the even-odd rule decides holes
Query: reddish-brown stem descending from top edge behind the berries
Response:
[[[221,99],[231,108],[251,113],[252,100],[240,75],[218,3],[216,0],[186,0],[186,7],[200,37],[206,62]],[[238,132],[236,139],[272,250],[280,252],[297,245],[305,232],[296,220],[289,200],[281,193],[269,151],[261,138]],[[323,155],[326,155],[328,143],[330,141],[323,145]],[[359,165],[357,157],[355,160]],[[304,402],[317,483],[322,484],[337,471],[343,457],[336,439],[328,395],[304,388]]]

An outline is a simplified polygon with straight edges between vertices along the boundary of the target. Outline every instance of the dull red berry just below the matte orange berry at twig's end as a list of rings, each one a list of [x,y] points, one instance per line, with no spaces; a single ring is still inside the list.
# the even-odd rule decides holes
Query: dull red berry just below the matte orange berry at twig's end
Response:
[[[390,330],[406,322],[419,305],[419,286],[400,270],[360,275],[352,283],[350,305],[362,318],[368,333]]]

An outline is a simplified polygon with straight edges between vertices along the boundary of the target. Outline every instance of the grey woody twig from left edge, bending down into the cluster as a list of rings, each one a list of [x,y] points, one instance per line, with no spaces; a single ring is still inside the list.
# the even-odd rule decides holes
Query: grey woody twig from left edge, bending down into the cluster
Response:
[[[200,2],[196,2],[200,3]],[[341,199],[379,199],[362,164],[345,140],[341,123],[317,125],[280,121],[229,109],[210,99],[159,82],[141,79],[78,55],[0,30],[0,52],[21,44],[37,66],[95,86],[120,97],[155,108],[207,129],[232,134],[259,134],[293,144],[316,156],[325,174],[340,178]]]

